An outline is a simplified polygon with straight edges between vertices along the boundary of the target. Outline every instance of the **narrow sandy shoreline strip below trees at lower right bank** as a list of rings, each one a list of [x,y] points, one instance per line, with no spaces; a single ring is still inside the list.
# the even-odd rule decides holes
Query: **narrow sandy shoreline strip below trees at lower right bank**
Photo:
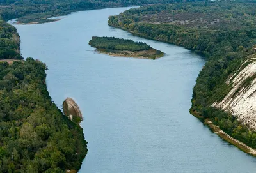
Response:
[[[230,144],[233,144],[234,146],[238,147],[245,153],[256,156],[255,149],[253,149],[252,147],[246,146],[246,144],[244,144],[243,142],[240,142],[239,140],[234,139],[233,137],[230,137],[230,135],[228,135],[223,130],[221,130],[219,126],[215,126],[214,124],[212,124],[212,121],[210,121],[209,119],[205,119],[204,123],[207,124],[213,130],[213,132],[218,134],[222,139],[227,140]]]

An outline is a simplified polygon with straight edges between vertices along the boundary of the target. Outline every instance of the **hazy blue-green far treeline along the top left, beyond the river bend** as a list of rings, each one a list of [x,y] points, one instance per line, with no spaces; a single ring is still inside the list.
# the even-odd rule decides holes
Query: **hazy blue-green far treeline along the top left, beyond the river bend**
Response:
[[[182,0],[3,0],[0,4],[4,20],[20,18],[20,22],[51,22],[47,18],[56,15],[67,15],[79,10],[91,10],[97,8],[109,8],[117,6],[141,6],[144,4],[173,3]],[[185,1],[185,0],[184,0]],[[196,1],[196,0],[187,0]],[[197,0],[200,1],[200,0]]]

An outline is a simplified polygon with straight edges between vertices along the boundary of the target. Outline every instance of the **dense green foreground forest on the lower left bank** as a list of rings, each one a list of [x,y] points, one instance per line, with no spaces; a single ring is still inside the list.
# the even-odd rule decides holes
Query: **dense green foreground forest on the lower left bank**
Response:
[[[45,64],[0,63],[0,172],[79,170],[83,130],[51,101]]]

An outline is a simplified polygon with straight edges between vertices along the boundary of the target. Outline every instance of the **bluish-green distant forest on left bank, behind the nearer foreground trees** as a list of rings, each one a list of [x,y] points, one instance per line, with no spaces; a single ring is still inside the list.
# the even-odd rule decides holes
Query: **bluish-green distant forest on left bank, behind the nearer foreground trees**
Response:
[[[176,1],[181,0],[0,0],[0,59],[22,59],[19,52],[19,35],[15,27],[4,22],[6,20],[19,18],[19,22],[44,23],[54,21],[48,19],[49,17],[67,15],[74,11]]]

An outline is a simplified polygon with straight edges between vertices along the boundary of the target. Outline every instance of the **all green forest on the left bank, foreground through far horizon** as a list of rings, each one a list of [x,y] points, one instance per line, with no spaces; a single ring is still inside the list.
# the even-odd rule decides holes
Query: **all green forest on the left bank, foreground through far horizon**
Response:
[[[47,18],[72,11],[170,2],[2,0],[0,59],[23,59],[17,30],[6,20],[52,22]],[[81,167],[87,152],[83,130],[51,102],[45,70],[45,64],[32,58],[0,63],[0,172],[65,172]]]

